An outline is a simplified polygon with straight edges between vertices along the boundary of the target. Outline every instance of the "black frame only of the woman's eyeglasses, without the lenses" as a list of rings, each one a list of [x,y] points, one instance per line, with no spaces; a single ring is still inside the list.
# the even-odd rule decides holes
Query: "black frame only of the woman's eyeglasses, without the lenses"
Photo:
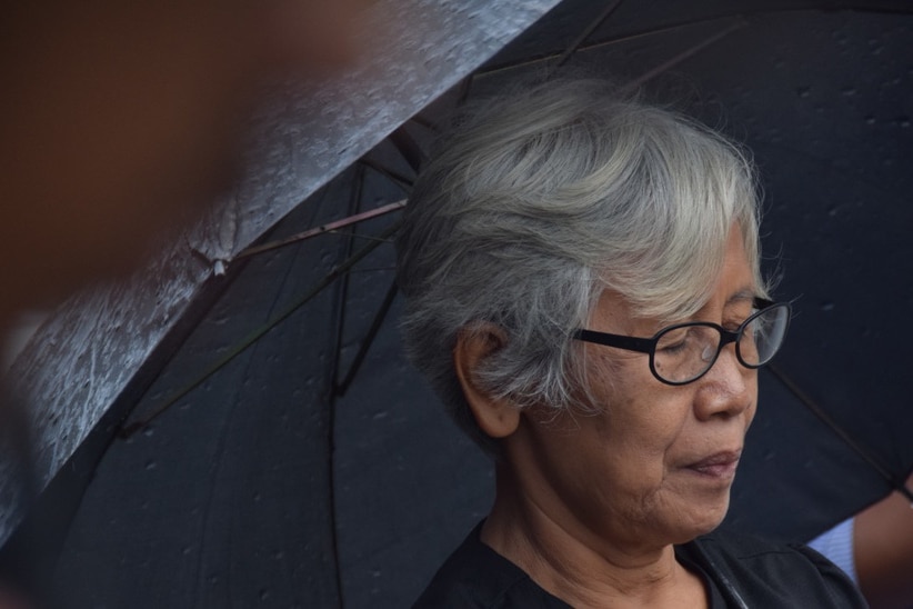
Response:
[[[652,338],[629,337],[624,335],[612,335],[609,332],[598,332],[595,330],[585,329],[574,330],[574,332],[571,335],[571,338],[575,340],[582,340],[584,342],[593,342],[596,345],[604,345],[606,347],[615,347],[616,349],[624,349],[625,351],[648,353],[650,356],[650,371],[653,373],[656,380],[659,380],[660,382],[664,382],[665,385],[681,386],[694,382],[708,372],[710,372],[710,369],[713,368],[713,365],[716,363],[716,360],[720,358],[720,352],[723,350],[723,347],[731,342],[735,343],[735,358],[739,360],[739,363],[741,363],[745,368],[756,370],[758,368],[761,368],[765,363],[770,362],[771,359],[773,359],[773,357],[776,355],[776,351],[780,350],[780,347],[777,347],[776,351],[771,353],[771,356],[765,361],[761,363],[748,363],[742,358],[742,351],[740,349],[739,341],[742,338],[742,333],[745,331],[745,328],[748,328],[749,323],[751,323],[752,321],[758,319],[758,317],[760,317],[762,313],[774,307],[784,307],[786,309],[786,326],[783,328],[783,336],[785,337],[786,331],[790,329],[790,318],[792,317],[792,307],[790,306],[790,303],[774,302],[772,300],[767,300],[764,298],[755,298],[752,302],[752,308],[755,309],[755,311],[752,315],[750,315],[745,319],[745,321],[743,321],[734,331],[726,330],[719,323],[713,323],[712,321],[686,321],[684,323],[675,323],[673,326],[668,326],[658,331],[655,335],[653,335]],[[672,330],[678,330],[679,328],[691,328],[694,326],[713,328],[714,330],[720,332],[720,345],[718,345],[716,347],[716,353],[714,353],[713,359],[710,360],[704,371],[694,378],[683,381],[671,381],[669,379],[662,378],[659,375],[659,372],[656,372],[656,366],[654,363],[654,358],[656,355],[656,345],[659,345],[660,338],[662,338],[663,335]]]

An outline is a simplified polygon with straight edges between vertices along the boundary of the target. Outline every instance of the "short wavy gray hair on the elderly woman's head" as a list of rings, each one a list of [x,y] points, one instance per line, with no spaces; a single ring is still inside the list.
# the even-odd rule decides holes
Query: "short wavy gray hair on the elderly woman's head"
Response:
[[[759,209],[748,157],[675,112],[601,80],[550,81],[471,109],[415,183],[398,238],[413,363],[483,448],[453,367],[461,330],[508,339],[478,371],[518,408],[576,405],[585,326],[603,290],[638,316],[696,312],[736,222],[759,296]]]

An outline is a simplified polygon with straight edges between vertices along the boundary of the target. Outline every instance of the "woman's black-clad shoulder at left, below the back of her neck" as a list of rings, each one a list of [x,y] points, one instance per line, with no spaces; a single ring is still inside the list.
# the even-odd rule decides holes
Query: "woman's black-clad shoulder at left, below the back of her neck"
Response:
[[[480,530],[481,523],[450,555],[413,609],[568,607],[536,586],[516,565],[482,543]]]

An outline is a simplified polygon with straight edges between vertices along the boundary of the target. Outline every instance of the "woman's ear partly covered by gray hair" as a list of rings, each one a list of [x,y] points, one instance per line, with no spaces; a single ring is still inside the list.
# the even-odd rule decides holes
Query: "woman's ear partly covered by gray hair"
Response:
[[[479,427],[492,438],[506,438],[520,425],[520,409],[505,398],[494,398],[478,382],[482,362],[503,349],[508,342],[504,330],[494,323],[465,327],[456,335],[453,365],[463,395]]]

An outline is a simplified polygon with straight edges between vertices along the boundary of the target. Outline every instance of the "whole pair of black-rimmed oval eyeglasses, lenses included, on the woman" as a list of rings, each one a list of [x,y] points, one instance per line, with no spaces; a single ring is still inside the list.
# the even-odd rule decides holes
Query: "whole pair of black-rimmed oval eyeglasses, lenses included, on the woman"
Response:
[[[703,377],[720,351],[735,343],[735,357],[745,368],[761,368],[780,347],[790,325],[790,304],[755,298],[754,312],[735,331],[709,321],[690,321],[663,328],[653,338],[575,330],[578,340],[650,353],[650,371],[666,385],[686,385]]]

